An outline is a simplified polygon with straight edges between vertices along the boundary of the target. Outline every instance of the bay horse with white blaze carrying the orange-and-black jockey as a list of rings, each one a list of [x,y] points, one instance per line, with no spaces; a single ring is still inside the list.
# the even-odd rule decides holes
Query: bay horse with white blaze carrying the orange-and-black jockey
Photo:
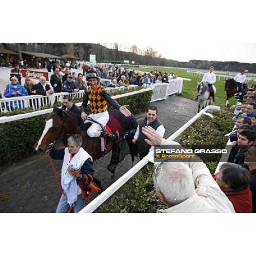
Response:
[[[93,161],[99,159],[102,157],[101,138],[89,137],[86,131],[80,128],[83,122],[80,116],[54,107],[53,112],[45,120],[41,137],[35,143],[35,151],[46,150],[49,143],[54,143],[58,139],[61,139],[67,147],[67,138],[72,134],[80,134],[83,138],[84,150],[91,155]],[[132,140],[137,126],[138,123],[133,115],[126,117],[119,110],[110,111],[106,129],[109,133],[116,134],[116,140],[106,142],[105,154],[112,150],[108,170],[113,174],[126,154],[131,154],[132,163],[134,162],[136,147]]]

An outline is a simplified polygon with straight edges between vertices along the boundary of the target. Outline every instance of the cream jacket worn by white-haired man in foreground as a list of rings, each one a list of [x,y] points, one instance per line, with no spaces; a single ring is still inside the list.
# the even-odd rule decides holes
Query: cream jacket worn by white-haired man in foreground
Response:
[[[162,140],[161,145],[179,145],[175,141]],[[195,182],[195,194],[165,210],[157,212],[235,212],[232,203],[221,191],[209,169],[203,162],[183,162],[189,165]]]

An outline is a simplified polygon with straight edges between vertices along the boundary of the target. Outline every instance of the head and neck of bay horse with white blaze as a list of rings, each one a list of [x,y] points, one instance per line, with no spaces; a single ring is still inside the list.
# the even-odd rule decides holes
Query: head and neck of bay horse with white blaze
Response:
[[[35,143],[35,150],[45,150],[49,143],[66,137],[67,133],[75,133],[79,122],[80,117],[54,107],[53,112],[45,120],[44,131]]]

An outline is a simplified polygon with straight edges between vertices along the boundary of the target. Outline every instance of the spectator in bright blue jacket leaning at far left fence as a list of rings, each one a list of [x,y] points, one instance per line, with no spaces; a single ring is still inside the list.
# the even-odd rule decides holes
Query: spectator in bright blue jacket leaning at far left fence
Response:
[[[21,97],[21,96],[28,95],[25,87],[19,84],[16,76],[11,77],[10,81],[11,83],[6,85],[3,96],[5,96],[6,98],[13,98],[13,97]],[[22,108],[22,105],[24,107],[24,102],[20,100],[15,102],[10,102],[11,110],[13,110],[14,105],[17,108]]]

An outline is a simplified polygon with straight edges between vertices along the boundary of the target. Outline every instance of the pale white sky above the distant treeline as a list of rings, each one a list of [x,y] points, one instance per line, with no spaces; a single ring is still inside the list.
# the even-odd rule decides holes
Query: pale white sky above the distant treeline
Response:
[[[120,43],[119,43],[120,44]],[[152,43],[122,43],[122,49],[128,51],[131,45],[152,47],[162,53],[165,58],[177,61],[208,60],[208,61],[239,61],[256,63],[256,43],[226,43],[214,41],[172,41],[163,40]]]

